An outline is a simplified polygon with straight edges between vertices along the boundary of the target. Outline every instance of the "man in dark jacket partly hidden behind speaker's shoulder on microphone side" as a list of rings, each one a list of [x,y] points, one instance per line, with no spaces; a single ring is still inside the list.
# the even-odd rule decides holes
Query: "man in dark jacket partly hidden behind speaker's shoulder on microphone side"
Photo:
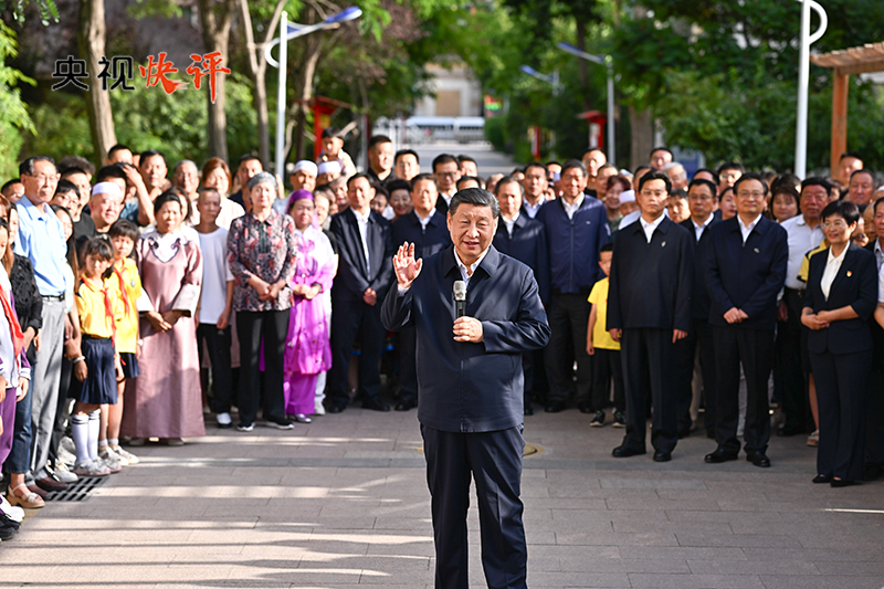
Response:
[[[544,178],[546,181],[546,177]],[[534,271],[540,288],[540,301],[549,301],[549,256],[547,254],[544,224],[528,217],[523,208],[525,188],[515,176],[505,176],[494,187],[494,196],[501,206],[501,220],[494,234],[497,251],[512,255]],[[546,397],[547,381],[544,370],[544,350],[525,353],[522,360],[525,370],[525,414],[533,416],[532,396]]]

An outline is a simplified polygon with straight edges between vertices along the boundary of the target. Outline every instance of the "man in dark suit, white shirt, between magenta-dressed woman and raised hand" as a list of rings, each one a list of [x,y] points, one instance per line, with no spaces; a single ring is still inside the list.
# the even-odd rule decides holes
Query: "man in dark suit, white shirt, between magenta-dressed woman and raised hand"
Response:
[[[340,255],[332,288],[332,370],[325,407],[339,413],[347,407],[347,372],[356,337],[359,336],[359,388],[362,407],[389,411],[380,400],[378,360],[383,346],[379,302],[393,278],[393,242],[390,223],[369,207],[375,189],[368,176],[347,180],[349,208],[332,218],[332,233]]]

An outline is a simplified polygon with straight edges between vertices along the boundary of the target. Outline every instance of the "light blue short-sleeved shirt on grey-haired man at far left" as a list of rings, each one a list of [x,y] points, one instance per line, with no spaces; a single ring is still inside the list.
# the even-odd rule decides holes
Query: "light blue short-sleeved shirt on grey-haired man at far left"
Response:
[[[67,244],[64,241],[62,222],[49,204],[44,207],[45,212],[40,212],[27,194],[19,201],[15,253],[31,260],[36,290],[41,296],[61,296],[67,286],[64,274]]]

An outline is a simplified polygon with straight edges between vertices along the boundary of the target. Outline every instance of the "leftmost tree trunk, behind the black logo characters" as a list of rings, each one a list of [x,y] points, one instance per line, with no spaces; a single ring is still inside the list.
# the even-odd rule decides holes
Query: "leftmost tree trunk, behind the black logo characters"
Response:
[[[80,2],[80,54],[86,60],[90,72],[90,90],[86,91],[86,107],[95,164],[102,166],[107,151],[117,143],[114,132],[114,113],[110,109],[110,93],[103,90],[98,81],[102,66],[98,60],[105,54],[104,0]]]

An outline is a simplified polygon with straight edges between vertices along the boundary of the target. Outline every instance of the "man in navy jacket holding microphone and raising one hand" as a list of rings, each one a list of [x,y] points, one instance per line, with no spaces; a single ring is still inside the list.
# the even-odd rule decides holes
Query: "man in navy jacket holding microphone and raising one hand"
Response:
[[[498,217],[490,192],[457,192],[448,218],[453,246],[425,261],[415,260],[413,245],[400,246],[393,260],[397,286],[383,302],[388,329],[414,325],[418,333],[418,419],[432,495],[438,589],[469,587],[471,476],[488,587],[527,587],[520,358],[546,345],[549,326],[532,270],[492,245]],[[452,296],[455,281],[466,283],[461,317]]]

